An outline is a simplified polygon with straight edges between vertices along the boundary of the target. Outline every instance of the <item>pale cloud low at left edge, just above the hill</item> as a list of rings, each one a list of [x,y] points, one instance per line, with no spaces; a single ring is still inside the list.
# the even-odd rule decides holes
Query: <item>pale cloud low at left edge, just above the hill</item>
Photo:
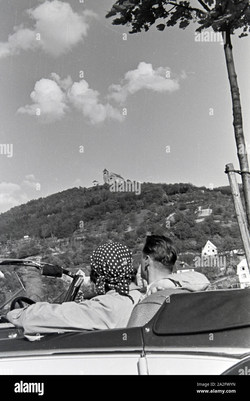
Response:
[[[14,206],[22,205],[30,199],[40,197],[36,191],[36,178],[33,174],[25,176],[21,184],[12,182],[0,183],[0,213],[4,213]]]

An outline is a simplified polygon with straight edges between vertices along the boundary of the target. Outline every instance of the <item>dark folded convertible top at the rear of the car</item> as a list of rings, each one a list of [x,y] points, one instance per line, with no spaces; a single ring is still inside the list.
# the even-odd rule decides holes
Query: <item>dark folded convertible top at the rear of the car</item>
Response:
[[[158,335],[250,327],[250,288],[173,294],[153,324]]]

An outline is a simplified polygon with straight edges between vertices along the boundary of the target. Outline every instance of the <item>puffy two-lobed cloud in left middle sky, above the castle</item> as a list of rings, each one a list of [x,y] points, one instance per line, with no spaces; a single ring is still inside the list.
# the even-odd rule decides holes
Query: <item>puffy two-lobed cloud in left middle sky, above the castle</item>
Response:
[[[121,112],[108,103],[100,103],[99,92],[89,88],[84,79],[73,83],[70,76],[60,79],[56,73],[52,73],[51,78],[42,78],[36,82],[30,94],[34,103],[20,107],[18,113],[38,115],[40,111],[41,121],[48,123],[61,119],[67,110],[75,108],[91,124],[103,122],[107,118],[123,121]]]

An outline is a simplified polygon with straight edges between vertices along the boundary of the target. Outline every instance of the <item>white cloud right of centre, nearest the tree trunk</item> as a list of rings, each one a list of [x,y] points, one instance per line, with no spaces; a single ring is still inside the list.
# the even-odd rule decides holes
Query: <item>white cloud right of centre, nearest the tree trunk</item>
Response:
[[[109,97],[119,103],[123,103],[127,96],[140,89],[148,89],[155,92],[172,92],[179,89],[178,79],[166,78],[167,68],[153,69],[152,64],[142,61],[137,69],[128,71],[121,85],[110,85]]]

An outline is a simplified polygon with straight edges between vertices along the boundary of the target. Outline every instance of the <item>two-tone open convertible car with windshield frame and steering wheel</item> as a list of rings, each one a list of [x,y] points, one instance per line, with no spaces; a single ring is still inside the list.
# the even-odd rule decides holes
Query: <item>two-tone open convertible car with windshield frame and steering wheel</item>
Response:
[[[46,263],[4,259],[0,265],[68,275],[72,282],[63,302],[74,301],[83,282],[81,275]],[[145,298],[143,314],[155,306],[156,313],[143,326],[50,334],[33,342],[2,314],[0,374],[250,375],[250,288],[166,291]],[[34,301],[18,296],[10,309],[26,303]]]

